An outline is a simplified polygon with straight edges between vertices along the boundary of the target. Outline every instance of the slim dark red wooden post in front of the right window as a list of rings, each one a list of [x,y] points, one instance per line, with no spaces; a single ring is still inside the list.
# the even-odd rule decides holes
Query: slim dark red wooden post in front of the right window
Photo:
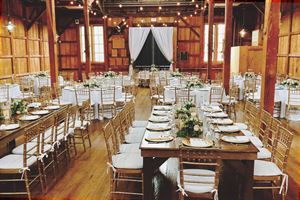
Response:
[[[214,27],[214,0],[208,1],[208,56],[207,56],[207,78],[211,80],[213,27]]]

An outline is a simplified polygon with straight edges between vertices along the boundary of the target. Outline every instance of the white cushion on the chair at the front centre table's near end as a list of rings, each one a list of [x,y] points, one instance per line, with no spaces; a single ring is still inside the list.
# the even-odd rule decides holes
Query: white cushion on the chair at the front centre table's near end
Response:
[[[214,189],[215,172],[206,169],[184,169],[184,190],[191,193],[207,193]],[[192,174],[192,175],[189,175]],[[189,181],[189,182],[188,182]],[[190,183],[192,181],[207,183]],[[180,184],[180,175],[177,176],[177,182]]]

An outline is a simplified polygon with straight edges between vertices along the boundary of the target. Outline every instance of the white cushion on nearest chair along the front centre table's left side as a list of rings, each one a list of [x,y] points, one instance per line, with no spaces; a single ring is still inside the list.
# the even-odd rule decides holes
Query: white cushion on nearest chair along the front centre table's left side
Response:
[[[119,169],[142,169],[143,157],[138,153],[122,153],[112,156],[112,165]]]

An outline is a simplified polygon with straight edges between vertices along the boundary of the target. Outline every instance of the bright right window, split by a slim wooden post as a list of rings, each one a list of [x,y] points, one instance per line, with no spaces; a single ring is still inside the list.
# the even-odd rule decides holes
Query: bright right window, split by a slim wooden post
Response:
[[[216,24],[213,26],[213,47],[212,60],[215,62],[223,61],[223,46],[225,36],[225,25]],[[208,56],[208,24],[204,26],[204,62],[207,62]]]

